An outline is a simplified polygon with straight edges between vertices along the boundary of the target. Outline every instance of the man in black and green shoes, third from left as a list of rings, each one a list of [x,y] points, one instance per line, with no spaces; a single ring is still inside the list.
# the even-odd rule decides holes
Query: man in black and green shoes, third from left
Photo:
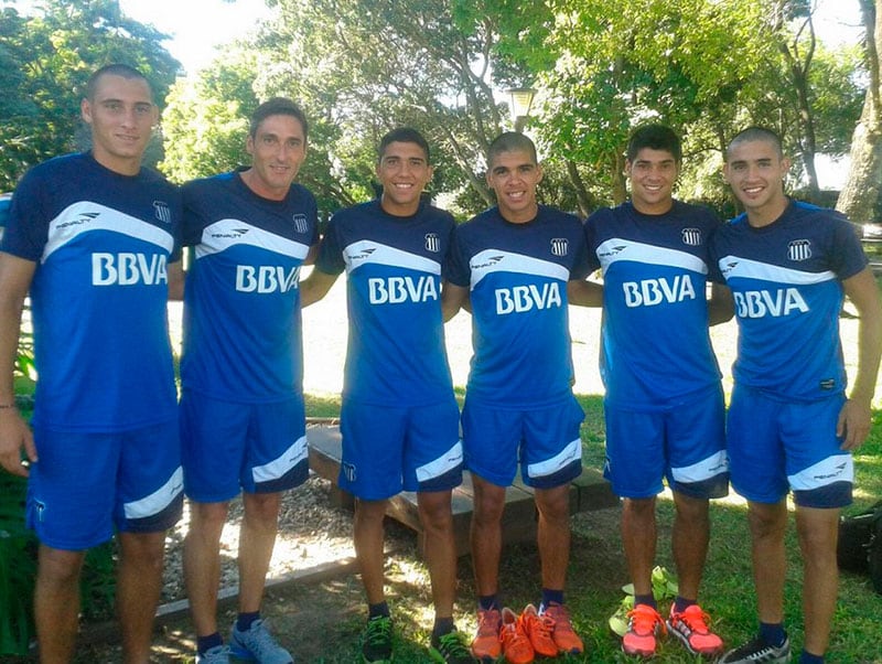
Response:
[[[340,486],[358,499],[354,539],[368,602],[362,661],[391,660],[383,518],[388,499],[404,490],[417,492],[426,533],[435,610],[431,655],[462,664],[473,661],[453,625],[451,492],[462,482],[462,445],[441,315],[441,269],[454,222],[422,200],[432,167],[418,131],[388,132],[378,158],[380,197],[331,218],[315,268],[301,286],[308,304],[346,272]]]

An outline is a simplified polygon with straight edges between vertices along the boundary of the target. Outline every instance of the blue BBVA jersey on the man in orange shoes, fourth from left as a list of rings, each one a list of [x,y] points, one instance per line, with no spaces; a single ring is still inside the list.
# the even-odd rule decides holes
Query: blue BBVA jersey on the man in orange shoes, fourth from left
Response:
[[[582,224],[539,206],[526,224],[492,207],[456,227],[449,279],[469,288],[469,398],[499,408],[541,408],[571,393],[567,282],[585,274]]]

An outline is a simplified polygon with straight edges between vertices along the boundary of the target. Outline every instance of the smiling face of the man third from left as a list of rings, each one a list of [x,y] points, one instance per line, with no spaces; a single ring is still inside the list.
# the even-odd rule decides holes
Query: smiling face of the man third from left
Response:
[[[415,214],[432,173],[429,158],[420,146],[409,141],[390,142],[377,164],[377,180],[383,185],[383,210],[395,216]]]

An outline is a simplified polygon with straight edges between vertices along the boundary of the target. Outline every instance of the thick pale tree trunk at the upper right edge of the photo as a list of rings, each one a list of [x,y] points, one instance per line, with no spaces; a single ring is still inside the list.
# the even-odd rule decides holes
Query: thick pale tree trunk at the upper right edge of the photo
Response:
[[[867,29],[869,84],[851,141],[848,179],[836,208],[863,224],[875,221],[874,207],[882,188],[882,0],[861,0],[860,4]]]

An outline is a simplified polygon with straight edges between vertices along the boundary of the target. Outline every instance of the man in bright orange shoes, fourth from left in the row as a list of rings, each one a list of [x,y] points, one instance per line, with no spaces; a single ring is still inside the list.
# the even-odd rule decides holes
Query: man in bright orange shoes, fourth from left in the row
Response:
[[[472,653],[509,662],[579,653],[563,588],[570,553],[569,486],[582,472],[573,397],[567,283],[585,275],[577,217],[539,205],[536,148],[521,133],[497,137],[487,152],[487,184],[497,205],[458,226],[444,286],[448,317],[470,303],[474,356],[462,414],[466,465],[474,483],[472,561],[478,593]],[[506,624],[498,598],[505,489],[517,472],[535,489],[542,598]],[[510,620],[507,622],[512,622]],[[526,633],[526,636],[525,636]]]

